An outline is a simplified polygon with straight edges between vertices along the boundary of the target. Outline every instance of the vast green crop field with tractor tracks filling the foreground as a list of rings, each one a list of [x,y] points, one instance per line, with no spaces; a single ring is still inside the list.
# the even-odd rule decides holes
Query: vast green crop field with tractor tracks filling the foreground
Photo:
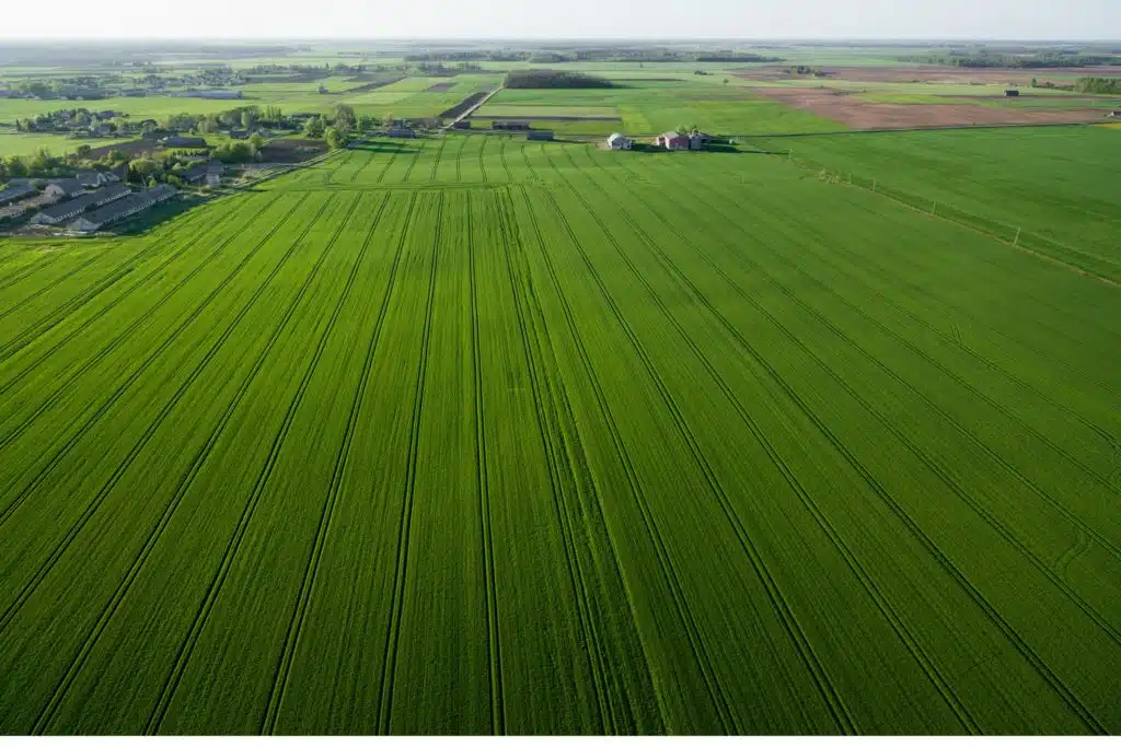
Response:
[[[1106,255],[1096,140],[924,137],[814,152]],[[1118,732],[1118,318],[761,153],[376,141],[0,240],[0,732]]]

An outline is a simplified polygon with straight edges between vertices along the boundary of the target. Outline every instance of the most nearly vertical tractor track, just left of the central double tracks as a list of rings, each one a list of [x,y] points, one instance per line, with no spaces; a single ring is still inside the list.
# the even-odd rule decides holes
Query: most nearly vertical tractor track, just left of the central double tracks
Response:
[[[464,138],[465,140],[465,138]],[[467,268],[471,304],[471,367],[475,386],[475,486],[479,493],[479,522],[482,534],[483,586],[487,590],[487,659],[490,676],[491,734],[506,734],[506,698],[502,689],[502,648],[498,619],[498,582],[494,563],[494,522],[491,516],[490,485],[487,476],[487,429],[484,427],[483,370],[479,340],[479,279],[475,272],[474,223],[471,215],[471,194],[466,196],[467,209]]]

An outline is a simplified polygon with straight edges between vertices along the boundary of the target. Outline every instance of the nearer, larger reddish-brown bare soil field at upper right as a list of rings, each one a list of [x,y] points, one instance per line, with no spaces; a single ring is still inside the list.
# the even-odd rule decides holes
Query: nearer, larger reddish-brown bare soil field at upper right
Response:
[[[970,124],[1099,122],[1095,109],[1000,109],[982,104],[886,104],[824,88],[756,88],[756,95],[810,111],[854,130],[917,129]]]

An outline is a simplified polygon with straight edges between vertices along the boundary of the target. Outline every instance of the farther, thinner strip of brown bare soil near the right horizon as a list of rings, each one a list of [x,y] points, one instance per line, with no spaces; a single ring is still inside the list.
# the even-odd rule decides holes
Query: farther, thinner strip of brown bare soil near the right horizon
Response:
[[[767,66],[738,72],[748,81],[779,81],[794,77],[788,66]],[[856,81],[861,83],[1001,83],[1028,85],[1031,78],[1049,80],[1053,76],[1121,77],[1121,66],[1096,67],[951,67],[937,65],[900,65],[898,67],[825,67],[826,80]]]

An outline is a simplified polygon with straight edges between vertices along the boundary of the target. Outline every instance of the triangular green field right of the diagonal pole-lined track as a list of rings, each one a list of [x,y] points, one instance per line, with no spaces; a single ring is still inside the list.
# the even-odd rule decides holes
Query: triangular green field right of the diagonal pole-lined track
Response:
[[[753,139],[842,180],[1121,281],[1121,151],[1096,127]]]

